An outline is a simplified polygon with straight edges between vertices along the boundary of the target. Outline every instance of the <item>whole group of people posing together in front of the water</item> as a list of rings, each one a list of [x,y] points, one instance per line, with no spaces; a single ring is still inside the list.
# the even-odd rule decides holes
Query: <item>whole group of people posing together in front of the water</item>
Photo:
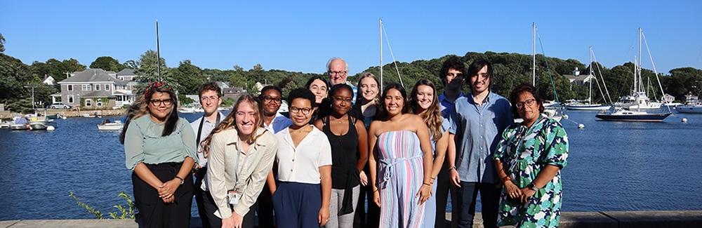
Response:
[[[208,82],[188,123],[173,88],[150,84],[120,135],[143,225],[187,227],[194,195],[203,227],[253,227],[255,213],[259,227],[444,227],[450,193],[452,227],[472,227],[479,192],[485,227],[557,227],[568,138],[534,86],[508,100],[489,62],[455,56],[440,95],[428,79],[381,90],[369,72],[354,86],[341,58],[326,69],[290,91],[289,116],[276,86],[224,116]]]

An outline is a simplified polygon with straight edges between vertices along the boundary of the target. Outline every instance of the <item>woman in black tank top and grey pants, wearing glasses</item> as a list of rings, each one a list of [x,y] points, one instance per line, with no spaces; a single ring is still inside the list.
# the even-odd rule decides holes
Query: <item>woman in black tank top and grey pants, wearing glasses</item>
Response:
[[[368,136],[363,122],[347,114],[353,99],[351,86],[333,86],[330,95],[331,114],[314,122],[329,139],[333,161],[331,217],[326,227],[353,227],[360,191],[359,172],[368,161]]]

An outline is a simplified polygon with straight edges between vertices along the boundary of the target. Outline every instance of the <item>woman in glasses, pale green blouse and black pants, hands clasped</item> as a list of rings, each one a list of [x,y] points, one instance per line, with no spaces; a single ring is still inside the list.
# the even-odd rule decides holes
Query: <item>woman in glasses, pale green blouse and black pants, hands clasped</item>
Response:
[[[144,227],[188,227],[192,175],[197,161],[195,133],[178,118],[173,87],[151,83],[127,110],[119,135],[132,172],[134,200]]]

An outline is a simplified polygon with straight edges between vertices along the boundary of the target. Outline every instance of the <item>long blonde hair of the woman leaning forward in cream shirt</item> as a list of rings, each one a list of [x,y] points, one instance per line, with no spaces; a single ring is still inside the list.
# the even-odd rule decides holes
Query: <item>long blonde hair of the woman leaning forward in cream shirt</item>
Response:
[[[205,158],[209,156],[210,143],[212,142],[212,137],[215,134],[230,128],[237,129],[237,111],[239,111],[239,107],[242,104],[244,104],[244,102],[248,102],[251,105],[251,108],[253,109],[253,115],[256,116],[256,123],[254,123],[253,125],[253,132],[251,133],[251,135],[249,135],[249,140],[247,141],[247,143],[251,144],[253,142],[256,142],[258,136],[262,135],[256,135],[256,132],[258,131],[258,128],[263,128],[263,105],[261,105],[260,100],[251,93],[241,95],[241,97],[239,97],[239,100],[237,100],[237,103],[234,104],[234,109],[232,109],[232,112],[229,115],[227,115],[227,117],[225,117],[225,119],[223,119],[220,122],[220,124],[212,130],[210,135],[207,135],[207,138],[205,138],[205,140],[202,140],[202,142],[200,142],[200,146],[202,147],[202,153],[204,154]],[[238,130],[239,129],[237,129],[237,131]]]

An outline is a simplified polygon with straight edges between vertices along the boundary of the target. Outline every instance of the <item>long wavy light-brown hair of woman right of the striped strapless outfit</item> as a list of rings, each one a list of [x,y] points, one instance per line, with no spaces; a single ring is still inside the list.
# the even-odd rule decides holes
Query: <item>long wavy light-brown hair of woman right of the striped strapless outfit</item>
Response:
[[[432,98],[432,105],[430,105],[428,109],[417,113],[419,109],[419,104],[417,103],[417,89],[419,86],[431,87],[432,90],[434,90],[434,98]],[[444,118],[441,116],[441,112],[439,111],[439,98],[437,98],[437,88],[434,86],[434,83],[429,81],[429,79],[419,79],[419,81],[414,84],[412,93],[409,95],[409,106],[413,114],[418,114],[427,123],[432,141],[438,142],[443,134],[441,126],[444,122]]]

